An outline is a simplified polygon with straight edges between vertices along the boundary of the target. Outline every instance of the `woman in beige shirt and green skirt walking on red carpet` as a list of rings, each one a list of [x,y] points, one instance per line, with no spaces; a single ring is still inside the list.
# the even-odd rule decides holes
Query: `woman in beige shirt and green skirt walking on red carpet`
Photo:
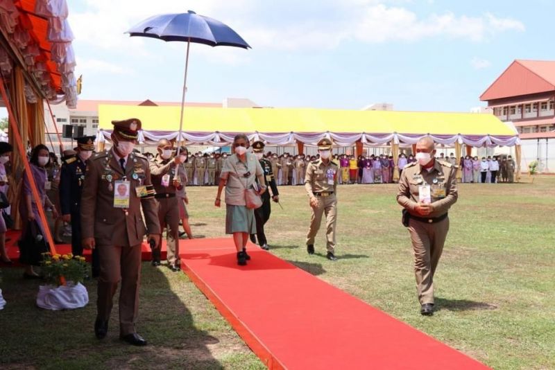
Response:
[[[223,162],[218,194],[214,202],[217,207],[221,205],[221,191],[225,186],[225,234],[233,234],[239,265],[246,265],[246,261],[250,259],[246,252],[248,236],[256,233],[255,213],[254,209],[246,207],[245,189],[253,188],[255,177],[258,177],[259,184],[264,184],[264,170],[255,155],[247,152],[248,147],[245,134],[234,137],[234,154]],[[259,194],[264,191],[266,186],[262,185]]]

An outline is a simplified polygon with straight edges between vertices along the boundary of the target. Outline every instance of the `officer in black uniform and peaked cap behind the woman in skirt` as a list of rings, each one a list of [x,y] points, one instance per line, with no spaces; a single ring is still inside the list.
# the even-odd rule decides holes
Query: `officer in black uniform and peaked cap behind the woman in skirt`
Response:
[[[266,188],[272,189],[272,200],[274,202],[280,201],[280,193],[278,192],[278,186],[275,184],[274,174],[272,172],[272,164],[268,159],[264,158],[264,142],[255,141],[253,143],[253,152],[264,170],[264,185]],[[258,181],[258,179],[257,179]],[[270,219],[271,206],[270,206],[270,194],[268,191],[262,193],[262,206],[255,209],[255,219],[256,219],[256,236],[258,239],[258,245],[265,250],[268,250],[268,240],[266,240],[266,234],[264,233],[264,224]],[[250,236],[251,241],[254,243],[254,234]]]

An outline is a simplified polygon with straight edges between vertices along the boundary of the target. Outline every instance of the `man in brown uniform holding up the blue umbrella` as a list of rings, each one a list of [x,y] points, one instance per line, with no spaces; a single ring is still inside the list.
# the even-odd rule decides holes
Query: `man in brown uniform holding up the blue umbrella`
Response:
[[[180,270],[179,258],[179,203],[176,200],[176,191],[183,187],[180,177],[176,177],[176,166],[185,161],[185,157],[180,155],[174,157],[173,146],[170,141],[161,139],[158,141],[158,154],[151,160],[152,184],[158,203],[158,220],[160,229],[163,231],[167,227],[167,260],[168,267],[173,272]],[[185,152],[187,155],[187,152]],[[160,247],[152,251],[152,265],[160,266]]]

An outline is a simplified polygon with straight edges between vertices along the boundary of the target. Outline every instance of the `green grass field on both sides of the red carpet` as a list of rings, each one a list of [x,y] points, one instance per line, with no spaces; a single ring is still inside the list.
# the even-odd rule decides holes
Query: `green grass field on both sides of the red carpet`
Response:
[[[459,185],[436,273],[433,317],[419,314],[396,191],[393,184],[339,187],[340,259],[332,263],[324,257],[323,231],[317,254],[306,253],[304,188],[282,187],[284,210],[273,206],[266,227],[271,252],[490,367],[555,369],[555,177]],[[216,188],[188,193],[194,234],[224,236],[225,207],[213,206]],[[19,269],[2,270],[4,369],[264,368],[184,274],[144,264],[138,329],[151,344],[140,349],[117,339],[117,306],[106,340],[94,338],[94,282],[87,283],[86,308],[47,312],[35,308],[37,282],[23,281]]]

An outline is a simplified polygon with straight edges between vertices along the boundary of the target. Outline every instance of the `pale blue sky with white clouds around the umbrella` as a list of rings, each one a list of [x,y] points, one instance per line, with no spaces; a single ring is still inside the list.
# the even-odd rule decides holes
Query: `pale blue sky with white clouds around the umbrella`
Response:
[[[232,26],[253,46],[194,44],[188,101],[468,112],[514,59],[555,59],[548,0],[68,3],[83,99],[180,100],[185,44],[123,32],[188,9]]]

